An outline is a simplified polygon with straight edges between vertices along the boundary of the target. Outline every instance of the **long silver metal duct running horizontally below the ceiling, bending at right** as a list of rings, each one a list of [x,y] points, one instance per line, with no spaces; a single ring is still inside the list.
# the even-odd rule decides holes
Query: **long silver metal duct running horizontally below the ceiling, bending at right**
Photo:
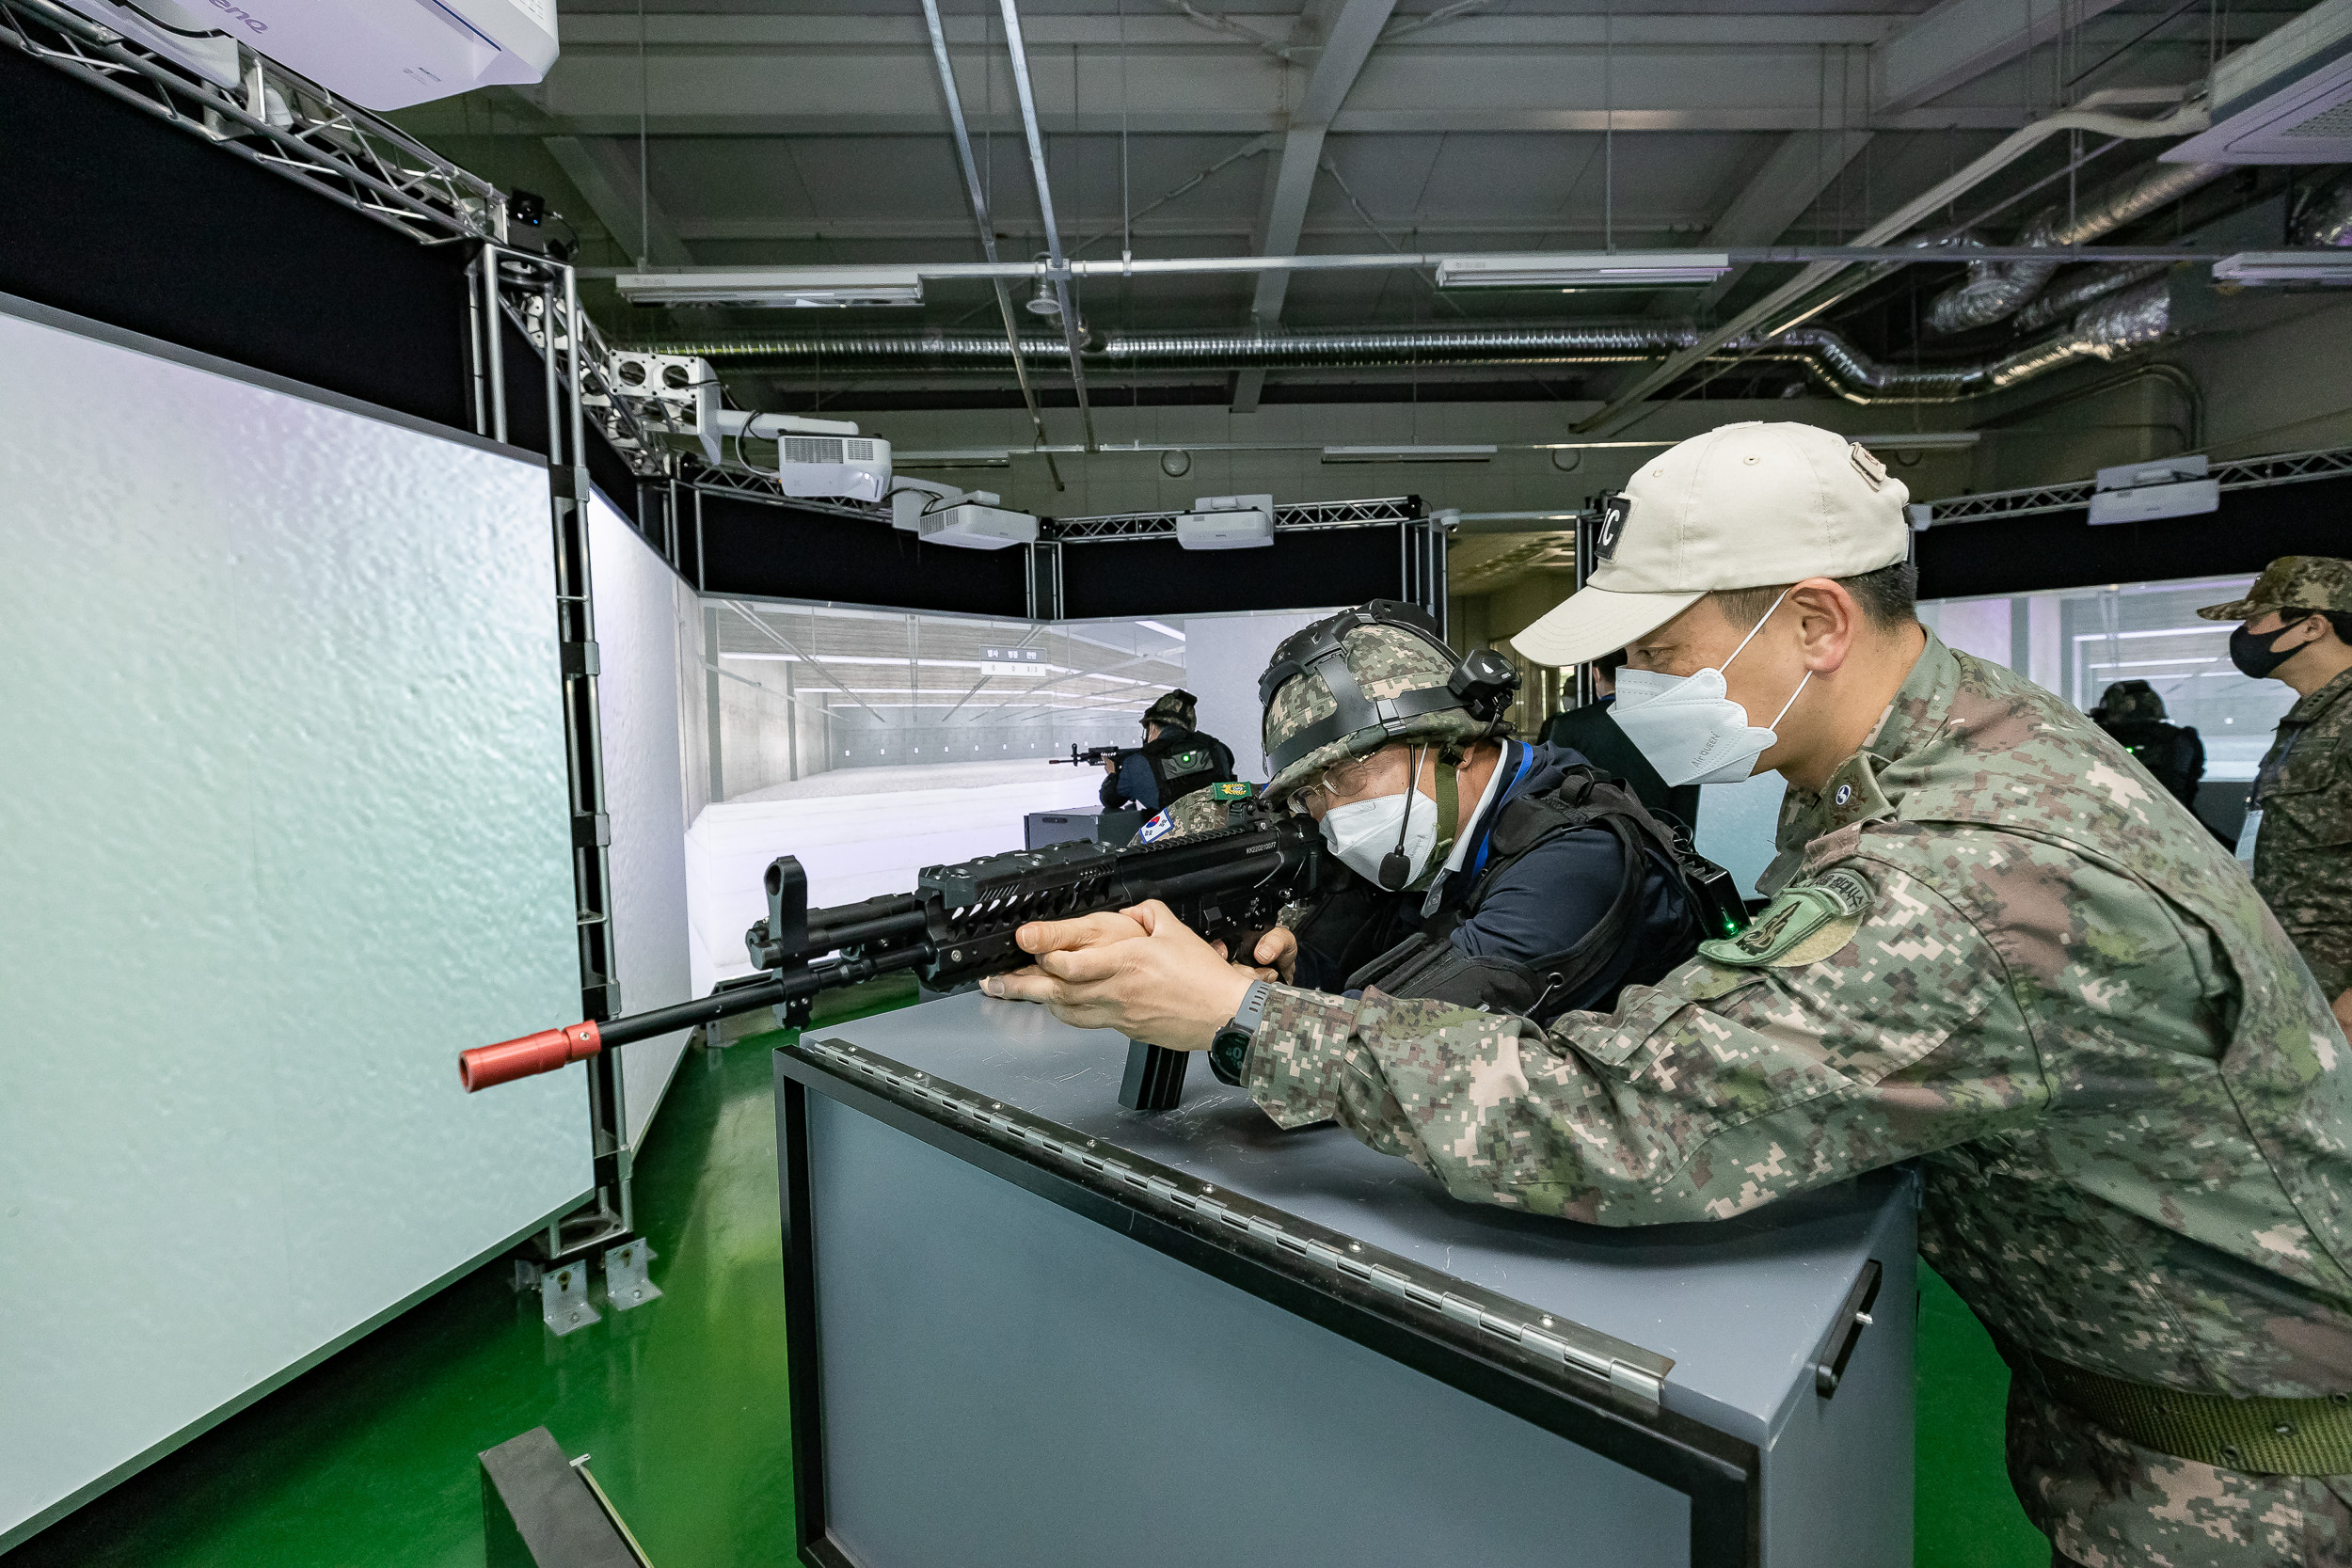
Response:
[[[1872,360],[1828,327],[1797,327],[1778,339],[1733,339],[1726,360],[1795,362],[1849,402],[1955,402],[2013,386],[2079,357],[2112,360],[2161,336],[2166,287],[2133,289],[2084,310],[2077,322],[2004,360],[1947,367],[1898,367]],[[1689,348],[1698,327],[1609,322],[1595,327],[1418,327],[1378,331],[1287,334],[1117,334],[1087,343],[1089,369],[1404,369],[1414,364],[1630,364]],[[715,364],[760,362],[776,371],[1009,371],[1011,348],[988,331],[835,331],[814,336],[677,339],[642,346],[696,355]],[[1068,364],[1061,339],[1023,336],[1035,367]]]

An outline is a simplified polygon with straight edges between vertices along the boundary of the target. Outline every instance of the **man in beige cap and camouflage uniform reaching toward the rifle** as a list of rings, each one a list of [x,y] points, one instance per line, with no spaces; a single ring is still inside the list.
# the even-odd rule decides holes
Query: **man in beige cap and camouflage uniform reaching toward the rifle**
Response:
[[[1040,964],[983,990],[1230,1051],[1282,1126],[1592,1225],[1917,1159],[2053,1563],[2347,1568],[2352,1046],[2178,799],[1919,625],[1905,501],[1839,435],[1724,425],[1609,498],[1590,585],[1515,639],[1625,646],[1665,783],[1788,778],[1771,907],[1616,1013],[1284,987],[1152,903],[1023,926]]]

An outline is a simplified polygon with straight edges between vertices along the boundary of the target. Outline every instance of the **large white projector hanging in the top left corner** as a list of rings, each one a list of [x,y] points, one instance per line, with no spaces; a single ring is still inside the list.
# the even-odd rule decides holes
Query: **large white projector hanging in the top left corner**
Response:
[[[539,82],[555,63],[555,0],[66,0],[223,87],[235,47],[360,108]],[[226,75],[223,75],[226,71]]]

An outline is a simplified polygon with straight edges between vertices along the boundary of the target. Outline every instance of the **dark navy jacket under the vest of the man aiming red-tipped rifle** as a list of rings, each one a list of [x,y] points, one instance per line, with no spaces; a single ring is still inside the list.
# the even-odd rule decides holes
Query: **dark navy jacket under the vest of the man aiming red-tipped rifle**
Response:
[[[1503,743],[1503,757],[1496,762],[1503,788],[1470,823],[1470,851],[1463,856],[1463,870],[1449,872],[1444,879],[1437,903],[1439,917],[1470,900],[1470,889],[1486,867],[1486,837],[1494,832],[1503,804],[1519,795],[1559,788],[1566,771],[1583,762],[1583,755],[1555,745]],[[1512,961],[1566,952],[1599,924],[1616,900],[1623,856],[1616,835],[1599,825],[1538,844],[1496,877],[1477,912],[1454,929],[1451,943],[1472,957]],[[1675,964],[1691,957],[1698,940],[1698,914],[1691,907],[1689,889],[1668,865],[1665,851],[1653,849],[1644,858],[1649,865],[1644,867],[1642,919],[1618,950],[1618,959],[1569,999],[1571,1009],[1609,1009],[1621,987],[1656,983]],[[1381,905],[1376,929],[1348,943],[1345,954],[1317,952],[1310,943],[1301,945],[1298,985],[1341,990],[1359,964],[1423,926],[1421,907],[1428,891],[1378,893],[1374,889],[1371,898]],[[1308,933],[1312,936],[1312,926]]]

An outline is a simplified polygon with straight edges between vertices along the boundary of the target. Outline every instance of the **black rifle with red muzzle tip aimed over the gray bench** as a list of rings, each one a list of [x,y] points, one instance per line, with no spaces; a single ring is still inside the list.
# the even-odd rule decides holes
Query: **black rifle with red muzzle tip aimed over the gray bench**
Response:
[[[788,1027],[809,1023],[809,1004],[830,985],[870,980],[903,969],[936,990],[1030,964],[1014,933],[1033,919],[1075,919],[1124,910],[1157,898],[1192,931],[1223,940],[1237,959],[1256,954],[1258,938],[1282,905],[1315,898],[1334,875],[1322,832],[1303,816],[1265,806],[1237,813],[1230,827],[1164,844],[1049,844],[931,865],[913,893],[884,893],[835,910],[809,907],[800,860],[781,856],[767,867],[767,919],[743,933],[750,961],[767,971],[748,985],[680,1001],[677,1006],[541,1030],[459,1056],[468,1091],[508,1079],[555,1072],[595,1056],[699,1023],[715,1023],[776,1006]],[[835,957],[826,957],[835,954]],[[1171,1110],[1183,1095],[1190,1053],[1134,1041],[1120,1103],[1131,1110]]]

